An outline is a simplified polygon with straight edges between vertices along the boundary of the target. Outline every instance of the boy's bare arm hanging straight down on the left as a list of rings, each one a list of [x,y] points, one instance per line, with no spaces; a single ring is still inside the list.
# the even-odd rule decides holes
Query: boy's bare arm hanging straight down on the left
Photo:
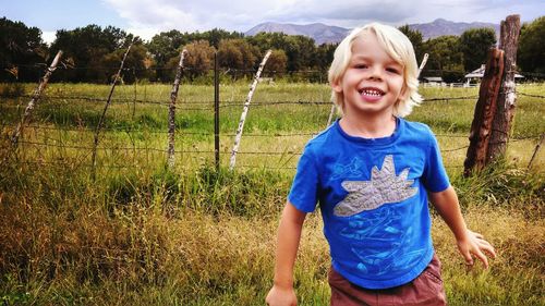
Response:
[[[294,306],[298,303],[293,290],[293,266],[298,254],[305,212],[287,203],[278,225],[275,283],[267,294],[269,306]]]

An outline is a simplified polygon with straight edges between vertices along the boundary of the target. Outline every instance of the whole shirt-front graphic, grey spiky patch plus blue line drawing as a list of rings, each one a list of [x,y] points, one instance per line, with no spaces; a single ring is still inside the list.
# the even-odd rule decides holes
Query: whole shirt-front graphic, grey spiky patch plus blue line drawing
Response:
[[[348,166],[338,169],[354,173],[354,166],[363,162],[354,158]],[[363,169],[359,169],[363,172]],[[384,206],[403,201],[417,193],[411,187],[413,180],[408,180],[409,168],[396,175],[393,156],[385,157],[382,169],[375,166],[371,170],[370,181],[343,181],[342,187],[349,194],[334,209],[338,217],[351,217],[347,227],[340,229],[340,235],[349,238],[350,249],[358,257],[354,268],[365,274],[385,276],[397,271],[404,272],[409,262],[422,258],[426,249],[412,249],[415,236],[412,227],[400,229],[402,212]],[[344,176],[347,178],[347,176]],[[353,178],[353,176],[349,176]],[[383,207],[384,206],[384,207]],[[382,207],[382,209],[376,209]],[[367,211],[366,213],[360,213]],[[409,268],[410,269],[410,268]]]

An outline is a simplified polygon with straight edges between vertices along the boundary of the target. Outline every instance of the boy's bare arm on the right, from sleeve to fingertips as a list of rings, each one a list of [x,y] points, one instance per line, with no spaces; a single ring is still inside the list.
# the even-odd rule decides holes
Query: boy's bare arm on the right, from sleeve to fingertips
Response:
[[[467,265],[473,266],[471,256],[473,254],[483,261],[485,268],[488,268],[488,260],[483,252],[495,258],[494,247],[483,238],[483,235],[468,230],[455,188],[449,186],[443,192],[429,193],[429,200],[455,234],[458,249],[465,258]]]

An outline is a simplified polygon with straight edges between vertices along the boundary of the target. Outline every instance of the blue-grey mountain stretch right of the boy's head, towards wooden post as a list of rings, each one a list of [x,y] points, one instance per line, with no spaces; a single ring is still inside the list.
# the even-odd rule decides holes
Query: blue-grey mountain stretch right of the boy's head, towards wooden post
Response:
[[[460,36],[470,28],[491,27],[496,32],[496,39],[499,39],[499,24],[482,22],[451,22],[444,19],[437,19],[431,23],[410,24],[411,29],[417,29],[422,33],[424,40],[443,35]]]

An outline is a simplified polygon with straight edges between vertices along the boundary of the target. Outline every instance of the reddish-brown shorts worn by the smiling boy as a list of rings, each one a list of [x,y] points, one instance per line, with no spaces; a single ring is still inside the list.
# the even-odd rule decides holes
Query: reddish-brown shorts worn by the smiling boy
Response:
[[[426,269],[413,281],[390,289],[368,290],[350,283],[331,267],[328,277],[331,306],[447,305],[440,262],[434,254]]]

